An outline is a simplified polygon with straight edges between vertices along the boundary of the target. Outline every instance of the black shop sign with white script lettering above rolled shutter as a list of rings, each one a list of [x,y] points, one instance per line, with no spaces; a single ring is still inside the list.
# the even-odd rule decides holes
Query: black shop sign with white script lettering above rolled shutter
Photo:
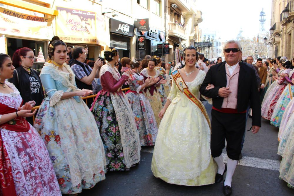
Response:
[[[134,26],[131,24],[124,23],[115,19],[109,19],[110,21],[110,31],[113,33],[118,33],[126,36],[134,36]]]

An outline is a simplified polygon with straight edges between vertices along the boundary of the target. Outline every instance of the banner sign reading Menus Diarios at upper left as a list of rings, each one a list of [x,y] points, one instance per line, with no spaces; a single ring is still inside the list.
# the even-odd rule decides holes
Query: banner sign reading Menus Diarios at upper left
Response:
[[[0,8],[0,20],[1,34],[46,40],[54,36],[52,19],[49,18]]]

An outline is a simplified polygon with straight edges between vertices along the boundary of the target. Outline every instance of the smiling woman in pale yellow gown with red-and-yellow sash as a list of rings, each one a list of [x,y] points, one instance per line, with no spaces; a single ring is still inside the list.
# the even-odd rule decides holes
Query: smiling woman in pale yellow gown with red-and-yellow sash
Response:
[[[155,177],[171,184],[213,184],[217,167],[210,150],[210,122],[197,99],[206,73],[195,67],[197,52],[193,46],[186,48],[184,57],[186,66],[172,73],[171,92],[159,113],[164,117],[158,128],[151,170]],[[213,85],[207,87],[210,88]]]

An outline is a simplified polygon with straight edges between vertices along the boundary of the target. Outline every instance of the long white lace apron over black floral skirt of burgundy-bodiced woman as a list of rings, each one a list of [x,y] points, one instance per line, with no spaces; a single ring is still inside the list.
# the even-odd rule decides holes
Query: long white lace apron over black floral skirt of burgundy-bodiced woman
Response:
[[[115,93],[110,93],[110,96],[121,134],[125,164],[129,168],[133,164],[140,162],[141,145],[135,117],[124,94],[122,97]]]

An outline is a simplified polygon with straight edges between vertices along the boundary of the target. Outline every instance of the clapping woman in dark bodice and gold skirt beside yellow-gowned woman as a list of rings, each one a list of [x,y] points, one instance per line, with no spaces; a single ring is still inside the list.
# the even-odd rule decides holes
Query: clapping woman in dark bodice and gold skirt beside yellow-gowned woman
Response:
[[[160,77],[160,72],[158,69],[155,69],[155,65],[156,58],[150,58],[148,60],[148,67],[144,68],[140,74],[144,77],[144,81],[148,78],[154,78],[154,83],[149,83],[145,87],[144,92],[151,104],[157,126],[159,126],[160,118],[158,117],[158,113],[163,108],[159,89],[161,89],[161,84],[165,84],[167,81]]]

